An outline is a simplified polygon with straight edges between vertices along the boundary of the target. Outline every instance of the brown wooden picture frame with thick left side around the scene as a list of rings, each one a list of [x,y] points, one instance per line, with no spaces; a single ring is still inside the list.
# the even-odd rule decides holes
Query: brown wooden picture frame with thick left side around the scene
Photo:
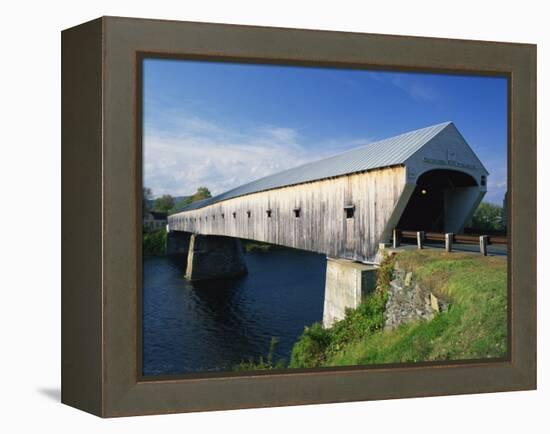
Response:
[[[140,375],[141,104],[147,55],[506,75],[509,357]],[[103,17],[62,33],[62,402],[102,416],[536,388],[536,46]]]

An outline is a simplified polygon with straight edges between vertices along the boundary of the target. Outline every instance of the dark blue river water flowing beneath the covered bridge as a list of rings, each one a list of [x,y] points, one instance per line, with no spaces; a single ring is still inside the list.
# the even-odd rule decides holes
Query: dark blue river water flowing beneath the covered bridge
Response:
[[[191,283],[167,257],[143,262],[143,375],[230,370],[265,356],[288,361],[293,343],[323,317],[324,255],[275,250],[245,254],[248,275]]]

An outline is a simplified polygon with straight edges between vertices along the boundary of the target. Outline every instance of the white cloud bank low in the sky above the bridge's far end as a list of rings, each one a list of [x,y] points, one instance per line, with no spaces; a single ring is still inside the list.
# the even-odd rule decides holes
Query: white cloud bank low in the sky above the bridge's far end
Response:
[[[308,148],[298,131],[287,127],[243,132],[188,115],[176,115],[168,123],[171,128],[148,128],[144,136],[144,185],[155,196],[186,195],[199,186],[219,194],[342,150],[342,141],[337,140]],[[347,144],[357,146],[357,141]]]

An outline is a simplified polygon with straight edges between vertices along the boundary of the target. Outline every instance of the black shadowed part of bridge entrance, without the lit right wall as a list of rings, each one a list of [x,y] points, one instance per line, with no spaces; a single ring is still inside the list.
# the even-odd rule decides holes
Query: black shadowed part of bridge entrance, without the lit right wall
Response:
[[[436,169],[422,174],[401,219],[401,230],[444,232],[446,200],[457,188],[477,186],[474,178],[456,170]]]

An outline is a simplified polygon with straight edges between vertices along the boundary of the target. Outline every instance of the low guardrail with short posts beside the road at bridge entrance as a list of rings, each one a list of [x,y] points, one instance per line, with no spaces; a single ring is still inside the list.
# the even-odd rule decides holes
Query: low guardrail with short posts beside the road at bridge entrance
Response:
[[[401,239],[415,239],[419,249],[424,248],[426,241],[442,241],[445,243],[445,250],[451,252],[453,243],[460,244],[479,244],[479,252],[487,256],[487,247],[490,245],[506,246],[508,239],[503,236],[494,235],[466,235],[454,233],[424,232],[424,231],[405,231],[400,229],[393,230],[393,247],[399,247]]]

